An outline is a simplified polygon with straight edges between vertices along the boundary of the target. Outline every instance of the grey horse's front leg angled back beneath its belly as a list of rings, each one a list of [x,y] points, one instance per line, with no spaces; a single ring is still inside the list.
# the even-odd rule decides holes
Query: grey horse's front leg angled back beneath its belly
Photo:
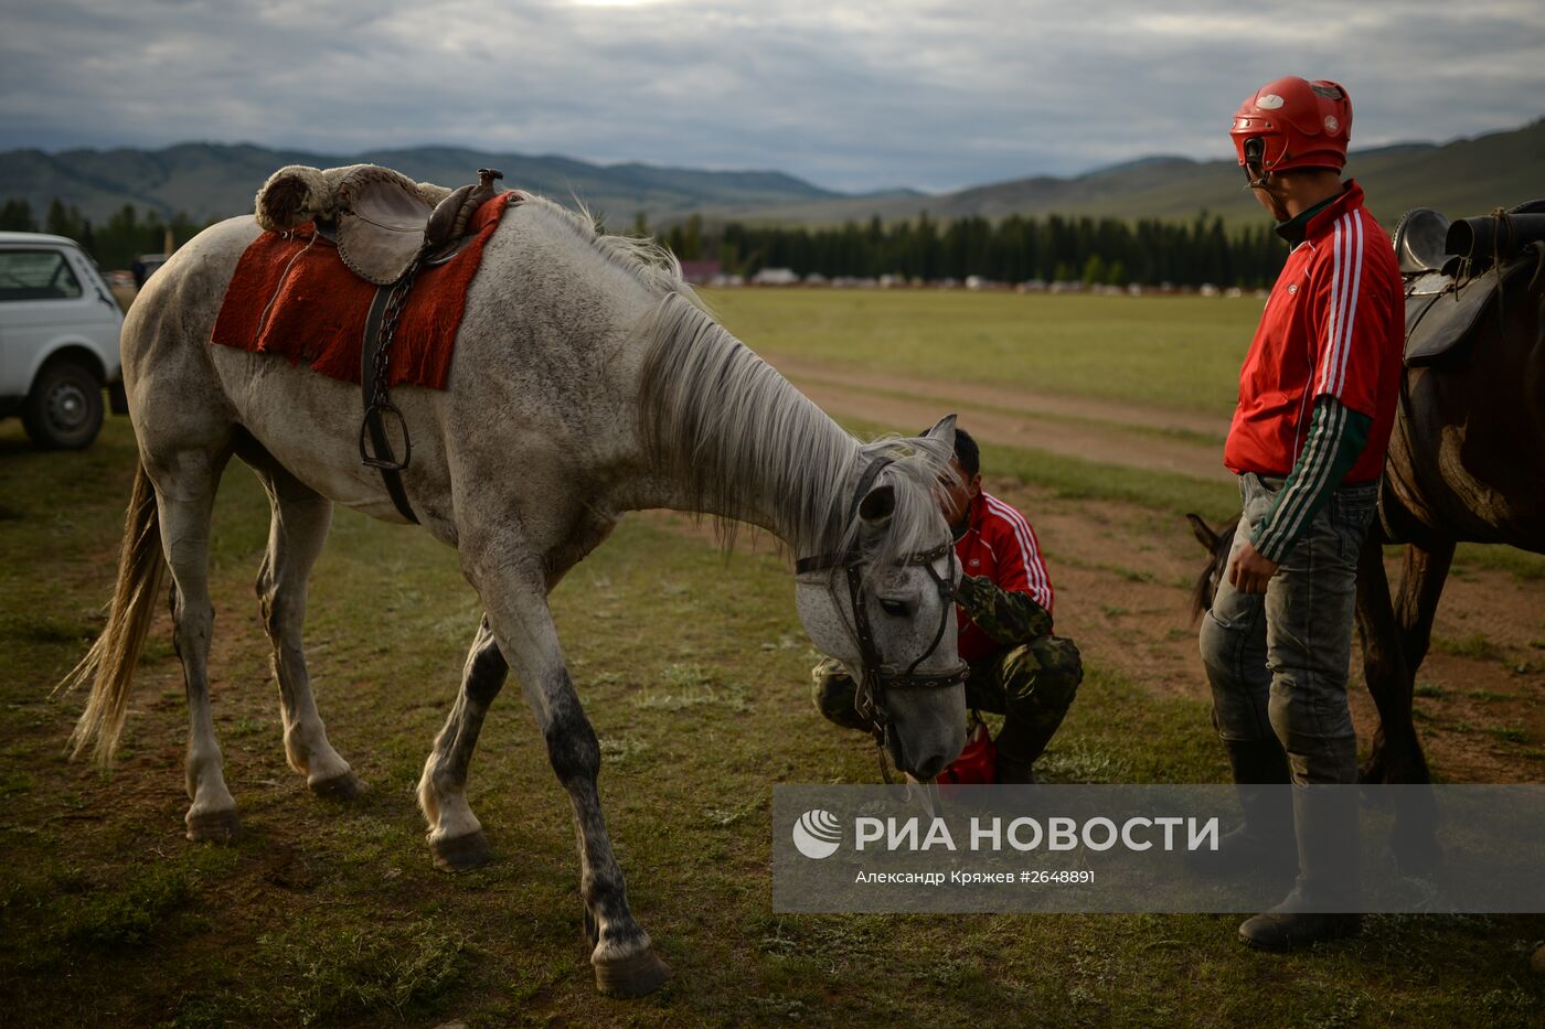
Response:
[[[484,618],[467,654],[462,689],[451,708],[451,717],[434,740],[434,751],[419,779],[419,805],[430,822],[430,850],[434,864],[447,871],[460,871],[488,864],[488,841],[482,824],[467,805],[467,768],[477,746],[488,706],[499,695],[510,672],[488,620]]]

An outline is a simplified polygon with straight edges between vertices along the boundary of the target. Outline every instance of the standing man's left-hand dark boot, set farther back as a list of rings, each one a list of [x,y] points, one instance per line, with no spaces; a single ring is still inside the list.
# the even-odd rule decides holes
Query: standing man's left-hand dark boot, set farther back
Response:
[[[1193,874],[1248,876],[1267,873],[1284,887],[1298,871],[1293,847],[1293,800],[1287,783],[1287,756],[1275,737],[1224,740],[1234,771],[1244,822],[1224,833],[1217,850],[1196,850],[1185,864]]]

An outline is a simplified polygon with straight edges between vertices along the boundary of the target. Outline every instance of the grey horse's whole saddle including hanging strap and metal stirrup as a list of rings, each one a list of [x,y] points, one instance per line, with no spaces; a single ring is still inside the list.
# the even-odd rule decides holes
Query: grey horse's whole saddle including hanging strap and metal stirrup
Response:
[[[443,264],[470,241],[473,215],[499,190],[504,173],[477,168],[477,182],[448,190],[414,182],[374,164],[341,168],[289,165],[258,190],[255,218],[269,232],[290,232],[307,221],[337,246],[343,264],[375,286],[360,348],[360,462],[377,468],[392,505],[409,522],[413,511],[402,471],[413,457],[408,422],[388,396],[391,345],[420,267]],[[389,420],[388,420],[389,419]],[[394,423],[396,431],[388,431]],[[392,448],[402,442],[402,459]]]

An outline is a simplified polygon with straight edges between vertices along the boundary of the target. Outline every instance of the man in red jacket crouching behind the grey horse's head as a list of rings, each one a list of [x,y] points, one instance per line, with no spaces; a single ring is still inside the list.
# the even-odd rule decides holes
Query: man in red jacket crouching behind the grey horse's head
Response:
[[[1035,782],[1032,766],[1072,705],[1083,664],[1072,640],[1052,635],[1052,581],[1035,530],[1014,507],[981,488],[981,454],[970,433],[955,428],[959,485],[944,518],[961,562],[956,629],[970,664],[966,703],[1004,715],[998,731],[998,782]],[[850,729],[870,726],[854,709],[853,678],[834,658],[814,671],[816,708]]]

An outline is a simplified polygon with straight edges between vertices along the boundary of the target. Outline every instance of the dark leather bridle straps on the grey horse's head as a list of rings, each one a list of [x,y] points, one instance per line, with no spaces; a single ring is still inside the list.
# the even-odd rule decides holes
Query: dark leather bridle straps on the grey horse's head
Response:
[[[859,485],[853,493],[853,502],[848,505],[848,521],[857,518],[859,504],[868,494],[870,487],[874,485],[874,479],[879,473],[885,470],[887,465],[893,464],[890,457],[876,457],[859,476]],[[947,558],[946,573],[941,576],[935,569],[933,562],[939,558]],[[868,610],[864,604],[862,584],[864,584],[864,567],[868,559],[859,550],[857,544],[848,547],[847,550],[836,553],[822,553],[810,558],[800,558],[794,562],[796,575],[805,575],[808,572],[825,572],[828,569],[842,569],[847,573],[848,582],[848,598],[853,603],[853,626],[848,627],[853,635],[853,641],[859,647],[859,661],[864,669],[859,675],[857,692],[854,695],[854,709],[859,717],[870,723],[874,734],[874,742],[881,745],[881,752],[884,754],[885,745],[885,729],[890,722],[885,712],[884,689],[947,689],[950,686],[958,686],[966,681],[970,675],[970,666],[964,661],[958,667],[949,672],[936,672],[932,675],[919,675],[918,666],[938,649],[939,641],[944,640],[944,632],[949,629],[950,616],[955,613],[955,544],[946,539],[938,547],[929,550],[918,550],[905,555],[898,561],[899,567],[921,565],[927,570],[929,578],[939,590],[939,599],[944,601],[939,607],[939,624],[933,632],[933,641],[918,654],[918,658],[907,666],[905,672],[887,671],[884,657],[874,643],[874,632],[870,627]],[[833,606],[840,612],[842,606],[837,603],[837,576],[827,576],[827,589],[831,592]],[[845,621],[844,621],[845,624]],[[881,763],[884,769],[884,759]],[[888,777],[888,776],[887,776]]]

